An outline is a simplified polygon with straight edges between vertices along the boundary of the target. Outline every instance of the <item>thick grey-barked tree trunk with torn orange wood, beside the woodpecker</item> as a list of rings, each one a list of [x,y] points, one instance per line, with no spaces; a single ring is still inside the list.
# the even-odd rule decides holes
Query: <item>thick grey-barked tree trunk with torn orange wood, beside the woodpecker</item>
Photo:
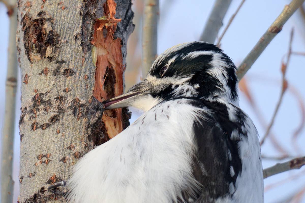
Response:
[[[129,124],[100,102],[123,93],[131,0],[18,1],[20,202],[64,202],[46,188]],[[98,157],[97,157],[98,159]]]

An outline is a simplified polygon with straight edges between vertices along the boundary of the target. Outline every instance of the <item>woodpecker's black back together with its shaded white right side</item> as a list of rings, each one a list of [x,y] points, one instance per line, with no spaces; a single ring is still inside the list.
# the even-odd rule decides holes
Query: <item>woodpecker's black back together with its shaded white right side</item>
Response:
[[[261,187],[256,194],[262,197],[260,148],[257,131],[252,121],[249,124],[248,116],[231,104],[193,101],[192,105],[207,108],[209,112],[213,113],[207,113],[203,117],[204,119],[198,117],[197,121],[193,123],[194,142],[197,145],[193,157],[193,176],[201,185],[201,190],[195,195],[192,193],[192,188],[190,188],[191,192],[188,189],[181,191],[182,198],[178,202],[239,202],[237,199],[234,200],[234,194],[238,198],[245,196],[246,194],[240,194],[240,191],[237,191],[237,187],[247,187],[247,183],[240,179],[239,182],[243,181],[244,185],[237,185],[237,179],[241,177],[242,164],[247,165],[247,159],[251,159],[251,157],[247,157],[251,153],[257,155],[254,156],[256,160],[253,160],[253,165],[257,164],[258,167],[253,167],[253,171],[257,170],[259,174],[258,180],[253,182],[254,184],[258,182],[258,186],[253,186],[253,183],[248,186],[249,189]],[[248,139],[249,136],[252,137],[251,140]],[[253,140],[255,143],[249,142]],[[242,145],[252,144],[257,146],[253,150],[247,147],[240,149]],[[249,153],[241,151],[244,149]],[[244,158],[245,160],[242,161]],[[248,174],[243,172],[243,175]],[[255,177],[256,174],[253,173],[253,176]],[[250,193],[254,193],[254,191]],[[262,202],[249,201],[249,199],[247,202]]]

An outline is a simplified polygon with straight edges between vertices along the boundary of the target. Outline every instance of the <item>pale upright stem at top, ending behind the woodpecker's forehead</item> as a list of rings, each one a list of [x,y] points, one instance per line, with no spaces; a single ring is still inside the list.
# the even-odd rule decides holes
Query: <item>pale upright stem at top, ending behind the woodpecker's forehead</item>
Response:
[[[142,76],[146,77],[157,55],[159,0],[145,0],[142,31]]]

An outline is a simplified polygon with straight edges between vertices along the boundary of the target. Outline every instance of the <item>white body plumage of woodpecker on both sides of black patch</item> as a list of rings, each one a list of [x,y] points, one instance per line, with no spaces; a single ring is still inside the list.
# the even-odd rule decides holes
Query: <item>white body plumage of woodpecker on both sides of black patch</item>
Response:
[[[194,119],[210,113],[185,101],[172,100],[153,107],[119,135],[82,157],[67,184],[70,202],[176,201],[181,189],[196,182],[191,167],[196,149]],[[237,177],[236,191],[232,198],[219,198],[217,203],[264,202],[260,146],[249,118],[243,130],[248,138],[239,142],[242,173]]]

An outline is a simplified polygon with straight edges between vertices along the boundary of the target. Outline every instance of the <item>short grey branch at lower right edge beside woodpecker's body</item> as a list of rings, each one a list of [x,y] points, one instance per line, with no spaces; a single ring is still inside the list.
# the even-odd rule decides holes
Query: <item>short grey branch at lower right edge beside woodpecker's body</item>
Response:
[[[300,169],[305,165],[305,156],[291,159],[290,161],[284,163],[277,163],[274,166],[266,168],[263,170],[264,178],[273,176],[278,173],[289,171],[292,169]]]

